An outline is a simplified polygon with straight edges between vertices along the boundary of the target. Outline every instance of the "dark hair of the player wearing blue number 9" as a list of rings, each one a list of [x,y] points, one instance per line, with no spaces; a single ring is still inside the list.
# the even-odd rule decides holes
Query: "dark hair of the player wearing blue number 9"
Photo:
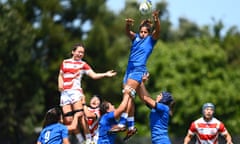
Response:
[[[54,107],[49,109],[45,114],[43,128],[45,128],[48,125],[58,123],[61,119],[61,114],[62,112],[60,107]]]

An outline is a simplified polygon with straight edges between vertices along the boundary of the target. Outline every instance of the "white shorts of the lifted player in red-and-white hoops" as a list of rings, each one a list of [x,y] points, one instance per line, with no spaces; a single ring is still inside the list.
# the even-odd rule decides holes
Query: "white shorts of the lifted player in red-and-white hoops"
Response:
[[[60,106],[69,105],[80,101],[83,96],[84,95],[81,90],[64,90],[61,92]]]

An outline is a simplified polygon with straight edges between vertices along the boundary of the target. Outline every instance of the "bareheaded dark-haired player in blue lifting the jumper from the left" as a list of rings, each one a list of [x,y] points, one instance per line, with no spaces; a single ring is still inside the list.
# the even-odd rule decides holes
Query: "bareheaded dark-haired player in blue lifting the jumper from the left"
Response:
[[[117,120],[122,112],[126,109],[129,99],[129,95],[124,96],[118,108],[115,108],[114,105],[108,101],[103,101],[101,103],[98,144],[115,143],[116,133],[109,133],[108,131],[118,123]]]

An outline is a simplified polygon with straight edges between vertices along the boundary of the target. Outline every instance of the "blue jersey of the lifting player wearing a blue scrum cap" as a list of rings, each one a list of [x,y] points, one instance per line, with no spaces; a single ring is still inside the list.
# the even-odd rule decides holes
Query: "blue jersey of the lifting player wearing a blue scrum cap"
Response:
[[[157,103],[150,113],[152,144],[171,144],[168,137],[169,107]]]

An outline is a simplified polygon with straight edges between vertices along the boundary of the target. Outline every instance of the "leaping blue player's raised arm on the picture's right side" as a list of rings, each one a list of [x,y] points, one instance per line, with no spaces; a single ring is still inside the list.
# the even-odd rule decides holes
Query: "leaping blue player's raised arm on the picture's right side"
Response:
[[[160,19],[159,19],[159,11],[153,12],[153,22],[154,22],[154,30],[152,33],[153,39],[157,40],[160,36]]]

